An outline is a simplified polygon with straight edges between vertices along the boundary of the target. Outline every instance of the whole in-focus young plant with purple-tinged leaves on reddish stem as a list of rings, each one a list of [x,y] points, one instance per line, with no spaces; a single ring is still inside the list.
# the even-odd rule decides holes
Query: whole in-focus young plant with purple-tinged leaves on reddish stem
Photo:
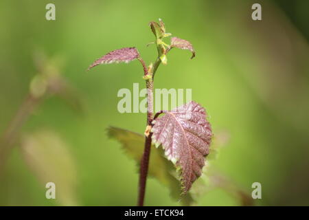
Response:
[[[188,192],[202,174],[211,144],[212,132],[206,119],[207,113],[200,104],[191,101],[172,111],[159,111],[154,114],[153,90],[157,69],[161,63],[167,64],[167,55],[173,48],[190,50],[191,58],[194,58],[195,52],[189,41],[177,37],[170,39],[170,45],[165,43],[163,39],[172,34],[165,32],[161,19],[159,23],[150,22],[150,28],[156,38],[155,42],[152,42],[157,45],[158,56],[155,62],[146,66],[135,47],[125,47],[102,56],[90,65],[89,69],[100,64],[128,63],[136,59],[141,63],[147,88],[147,126],[144,137],[115,127],[108,128],[108,135],[121,142],[126,153],[140,162],[138,206],[144,205],[148,168],[151,176],[171,188],[172,197],[179,197],[185,204],[189,204],[192,196]],[[164,152],[157,149],[150,157],[150,150],[155,148],[154,146],[162,146]]]

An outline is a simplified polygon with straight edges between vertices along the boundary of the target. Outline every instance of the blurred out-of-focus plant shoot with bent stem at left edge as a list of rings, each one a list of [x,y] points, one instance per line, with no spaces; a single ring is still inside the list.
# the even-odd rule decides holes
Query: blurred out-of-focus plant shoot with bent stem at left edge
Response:
[[[10,155],[10,150],[19,138],[21,127],[45,98],[57,95],[65,98],[73,105],[74,109],[82,110],[82,104],[75,89],[60,75],[58,67],[52,59],[48,60],[45,54],[41,53],[36,54],[34,61],[38,74],[32,78],[29,94],[27,94],[0,140],[0,176]]]

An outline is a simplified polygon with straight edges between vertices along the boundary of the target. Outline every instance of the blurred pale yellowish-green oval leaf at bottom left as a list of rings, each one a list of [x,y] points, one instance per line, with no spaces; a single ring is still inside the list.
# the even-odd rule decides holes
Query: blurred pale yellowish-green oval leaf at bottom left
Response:
[[[21,142],[25,162],[41,181],[56,185],[56,201],[63,206],[76,206],[76,164],[67,144],[52,131],[25,135]]]

